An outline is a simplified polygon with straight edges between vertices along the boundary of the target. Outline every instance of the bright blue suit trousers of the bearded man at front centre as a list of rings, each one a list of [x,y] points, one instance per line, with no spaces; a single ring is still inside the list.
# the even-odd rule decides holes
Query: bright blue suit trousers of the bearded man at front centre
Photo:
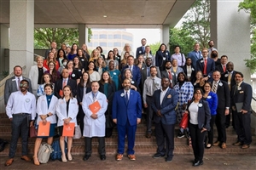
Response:
[[[137,125],[131,126],[127,120],[125,126],[117,125],[118,130],[118,153],[124,154],[125,152],[125,135],[127,134],[128,139],[128,155],[134,155],[134,144],[135,144],[135,133]]]

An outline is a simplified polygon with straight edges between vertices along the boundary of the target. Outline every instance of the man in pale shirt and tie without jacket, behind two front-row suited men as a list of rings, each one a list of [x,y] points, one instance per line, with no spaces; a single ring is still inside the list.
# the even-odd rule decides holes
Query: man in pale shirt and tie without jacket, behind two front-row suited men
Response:
[[[151,138],[151,126],[152,126],[152,117],[153,117],[153,110],[152,110],[152,103],[154,102],[153,94],[155,90],[161,88],[161,79],[156,77],[157,70],[156,66],[150,67],[150,77],[148,77],[143,86],[143,105],[146,108],[147,114],[147,131],[146,131],[146,138]]]

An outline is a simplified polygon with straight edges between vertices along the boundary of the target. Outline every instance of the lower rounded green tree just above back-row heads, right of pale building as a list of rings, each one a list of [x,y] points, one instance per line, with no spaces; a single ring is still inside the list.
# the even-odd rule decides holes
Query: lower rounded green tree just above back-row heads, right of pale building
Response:
[[[193,50],[195,39],[191,37],[189,31],[186,31],[181,28],[172,28],[170,29],[170,53],[174,53],[174,47],[179,45],[181,52],[185,55],[189,54]]]

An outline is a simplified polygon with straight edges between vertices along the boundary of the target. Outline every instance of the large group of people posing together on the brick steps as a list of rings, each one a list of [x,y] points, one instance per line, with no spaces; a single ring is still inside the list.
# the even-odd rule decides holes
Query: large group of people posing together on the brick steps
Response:
[[[250,101],[252,88],[243,82],[241,72],[234,71],[234,64],[226,55],[218,59],[218,51],[209,42],[210,48],[195,50],[186,57],[181,48],[175,46],[174,54],[162,43],[155,56],[146,45],[133,55],[129,44],[119,55],[118,49],[108,52],[108,57],[97,47],[90,54],[86,44],[79,48],[65,44],[56,49],[56,43],[46,51],[45,59],[37,57],[28,78],[22,77],[22,68],[14,68],[15,76],[5,84],[4,102],[6,113],[12,122],[12,139],[9,151],[9,166],[14,161],[19,134],[22,137],[21,159],[30,161],[27,155],[28,128],[38,122],[50,122],[49,136],[38,137],[34,146],[33,161],[39,165],[38,149],[43,138],[52,144],[55,127],[60,134],[61,160],[72,161],[73,138],[67,137],[67,156],[62,136],[63,125],[74,122],[79,126],[85,140],[84,161],[91,155],[91,139],[98,138],[100,159],[106,160],[105,138],[113,132],[113,121],[118,130],[116,160],[125,152],[125,138],[128,139],[127,155],[136,160],[135,137],[142,112],[146,113],[146,138],[152,136],[154,122],[157,153],[154,158],[166,156],[172,161],[174,150],[174,127],[181,122],[183,114],[189,114],[189,126],[181,127],[177,138],[185,135],[191,138],[194,150],[194,166],[203,161],[204,148],[212,145],[226,148],[225,128],[233,116],[233,127],[238,135],[234,145],[249,148],[252,142],[250,128]],[[137,64],[136,64],[137,63]],[[34,95],[32,95],[34,94]],[[36,102],[37,101],[37,102]],[[91,105],[99,106],[93,112]],[[27,123],[30,117],[32,122]],[[106,117],[111,117],[106,119]],[[106,122],[106,120],[108,122]],[[109,122],[110,121],[110,122]],[[213,143],[213,125],[218,128],[218,140]],[[108,125],[108,126],[107,126]],[[206,137],[207,136],[207,137]]]

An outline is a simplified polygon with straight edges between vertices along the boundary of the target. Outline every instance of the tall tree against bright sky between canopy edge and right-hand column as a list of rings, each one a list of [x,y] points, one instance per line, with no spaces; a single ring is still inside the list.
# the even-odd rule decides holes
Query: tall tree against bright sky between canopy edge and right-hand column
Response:
[[[210,0],[196,0],[183,19],[182,30],[189,32],[196,42],[201,43],[201,47],[207,48],[210,40]]]

